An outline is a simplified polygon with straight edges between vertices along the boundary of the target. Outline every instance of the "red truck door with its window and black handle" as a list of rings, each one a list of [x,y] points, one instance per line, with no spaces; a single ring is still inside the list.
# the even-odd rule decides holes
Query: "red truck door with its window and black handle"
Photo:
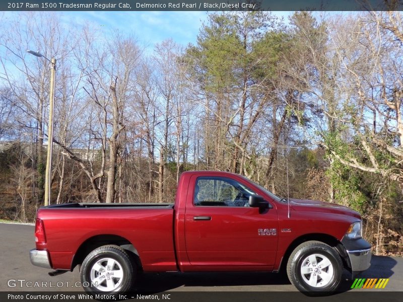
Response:
[[[194,176],[196,178],[196,176]],[[278,218],[274,208],[249,207],[246,184],[197,177],[185,214],[186,251],[193,266],[270,267],[275,263]]]

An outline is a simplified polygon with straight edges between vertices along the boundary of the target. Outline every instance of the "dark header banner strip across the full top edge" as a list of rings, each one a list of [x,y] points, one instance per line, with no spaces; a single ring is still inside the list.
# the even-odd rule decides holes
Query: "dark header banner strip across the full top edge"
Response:
[[[6,0],[0,11],[401,11],[403,0]]]

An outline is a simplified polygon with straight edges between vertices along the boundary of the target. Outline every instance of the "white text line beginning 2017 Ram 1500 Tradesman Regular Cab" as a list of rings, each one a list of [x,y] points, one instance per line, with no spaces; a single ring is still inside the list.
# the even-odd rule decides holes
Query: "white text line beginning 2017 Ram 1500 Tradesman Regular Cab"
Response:
[[[8,9],[96,9],[96,10],[113,10],[113,9],[255,9],[255,3],[226,3],[226,2],[168,2],[168,3],[142,3],[142,2],[121,2],[121,3],[65,3],[65,2],[43,2],[43,3],[24,3],[10,2]]]

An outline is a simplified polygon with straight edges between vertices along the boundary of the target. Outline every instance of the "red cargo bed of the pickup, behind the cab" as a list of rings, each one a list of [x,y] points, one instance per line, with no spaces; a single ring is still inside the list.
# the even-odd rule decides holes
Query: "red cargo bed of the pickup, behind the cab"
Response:
[[[173,203],[65,203],[43,206],[47,250],[54,269],[70,269],[80,247],[104,236],[132,244],[147,271],[176,270]],[[74,234],[74,236],[72,236]]]

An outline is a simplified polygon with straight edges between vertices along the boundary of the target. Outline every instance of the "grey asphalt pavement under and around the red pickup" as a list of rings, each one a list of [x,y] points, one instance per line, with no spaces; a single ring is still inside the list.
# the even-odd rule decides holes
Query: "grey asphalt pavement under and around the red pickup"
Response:
[[[77,267],[73,272],[51,277],[48,275],[50,269],[31,264],[28,252],[35,247],[33,225],[0,223],[0,243],[0,291],[83,291],[79,284],[75,286],[75,283],[80,281]],[[359,277],[389,278],[383,291],[401,291],[403,290],[403,258],[373,256],[370,269]],[[43,284],[46,286],[42,287]],[[348,274],[344,274],[340,289],[348,291],[351,284],[352,280],[349,279]],[[136,290],[153,292],[167,290],[296,291],[287,278],[276,273],[143,274],[138,278]]]

